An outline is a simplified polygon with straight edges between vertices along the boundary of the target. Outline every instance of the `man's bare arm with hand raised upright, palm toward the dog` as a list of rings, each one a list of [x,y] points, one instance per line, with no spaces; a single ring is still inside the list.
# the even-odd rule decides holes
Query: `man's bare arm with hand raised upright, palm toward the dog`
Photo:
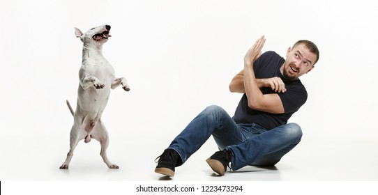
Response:
[[[282,101],[277,93],[263,94],[255,77],[253,63],[261,56],[265,38],[259,38],[245,54],[243,84],[244,91],[248,98],[248,107],[272,114],[282,114],[285,112]]]

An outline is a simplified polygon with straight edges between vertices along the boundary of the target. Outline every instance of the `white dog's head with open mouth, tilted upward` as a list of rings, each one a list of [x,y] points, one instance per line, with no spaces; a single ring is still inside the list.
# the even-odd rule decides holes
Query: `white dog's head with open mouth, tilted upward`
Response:
[[[107,42],[107,39],[111,37],[109,35],[109,31],[109,25],[97,26],[89,31],[86,31],[85,33],[82,33],[80,29],[75,28],[75,36],[80,38],[80,40],[82,40],[84,43],[103,45],[105,42]]]

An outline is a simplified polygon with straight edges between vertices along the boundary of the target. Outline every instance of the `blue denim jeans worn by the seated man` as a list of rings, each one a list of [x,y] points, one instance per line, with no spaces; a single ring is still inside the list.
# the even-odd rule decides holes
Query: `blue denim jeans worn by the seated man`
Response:
[[[243,166],[273,166],[294,148],[302,137],[296,123],[266,130],[255,123],[237,124],[218,106],[204,109],[172,141],[168,148],[179,153],[182,163],[213,135],[220,150],[231,150],[232,170]]]

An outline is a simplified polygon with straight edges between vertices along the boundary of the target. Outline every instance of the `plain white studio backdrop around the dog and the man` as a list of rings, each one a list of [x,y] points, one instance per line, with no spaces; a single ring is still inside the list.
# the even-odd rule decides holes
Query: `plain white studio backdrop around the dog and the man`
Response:
[[[290,120],[303,127],[301,146],[312,153],[296,155],[327,166],[363,150],[370,155],[358,162],[377,164],[373,1],[1,1],[1,180],[59,180],[40,171],[59,171],[68,152],[66,100],[76,106],[82,61],[73,28],[100,24],[112,26],[103,53],[131,87],[112,91],[103,114],[109,157],[121,167],[137,160],[128,151],[139,150],[152,172],[153,159],[211,104],[233,115],[241,95],[229,93],[229,81],[262,35],[264,51],[282,56],[299,39],[320,50],[316,68],[301,78],[308,102]],[[88,161],[80,158],[86,150]],[[98,143],[80,142],[72,163],[105,167],[98,153]],[[358,174],[347,180],[377,180]]]

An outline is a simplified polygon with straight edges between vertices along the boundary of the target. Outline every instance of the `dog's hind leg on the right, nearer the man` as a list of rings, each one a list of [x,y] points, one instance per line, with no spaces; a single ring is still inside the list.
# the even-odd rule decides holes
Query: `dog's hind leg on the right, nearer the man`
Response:
[[[109,146],[109,136],[107,134],[107,130],[105,125],[99,121],[96,126],[94,127],[93,133],[91,134],[93,139],[96,139],[100,142],[101,151],[100,155],[103,157],[103,160],[109,169],[119,169],[119,166],[116,164],[112,164],[109,159],[107,159],[107,146]]]

